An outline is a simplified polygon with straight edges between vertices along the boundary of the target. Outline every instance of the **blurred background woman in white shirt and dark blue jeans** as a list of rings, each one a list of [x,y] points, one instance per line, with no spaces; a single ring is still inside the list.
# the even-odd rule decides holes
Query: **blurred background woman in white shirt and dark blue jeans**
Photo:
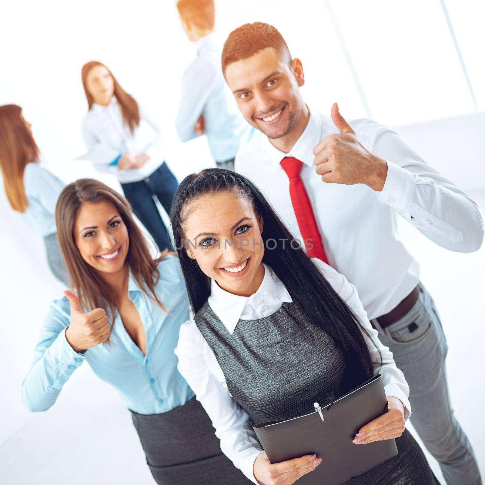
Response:
[[[89,107],[82,124],[88,153],[81,158],[100,172],[117,175],[133,212],[160,251],[170,248],[153,197],[170,213],[178,182],[164,162],[160,129],[105,65],[88,62],[81,78]]]

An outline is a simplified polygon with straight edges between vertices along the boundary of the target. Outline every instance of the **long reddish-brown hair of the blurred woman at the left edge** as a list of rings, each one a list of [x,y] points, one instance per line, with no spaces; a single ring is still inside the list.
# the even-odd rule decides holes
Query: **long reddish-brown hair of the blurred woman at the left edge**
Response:
[[[13,210],[25,212],[29,206],[24,187],[27,163],[35,162],[39,149],[16,104],[0,106],[0,169],[8,201]]]

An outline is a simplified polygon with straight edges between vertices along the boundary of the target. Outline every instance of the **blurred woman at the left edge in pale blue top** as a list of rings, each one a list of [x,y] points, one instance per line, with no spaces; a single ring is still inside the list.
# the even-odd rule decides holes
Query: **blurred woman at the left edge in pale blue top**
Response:
[[[44,238],[52,274],[69,285],[57,242],[54,209],[65,183],[39,164],[31,124],[15,104],[0,106],[0,168],[8,201],[27,226]]]

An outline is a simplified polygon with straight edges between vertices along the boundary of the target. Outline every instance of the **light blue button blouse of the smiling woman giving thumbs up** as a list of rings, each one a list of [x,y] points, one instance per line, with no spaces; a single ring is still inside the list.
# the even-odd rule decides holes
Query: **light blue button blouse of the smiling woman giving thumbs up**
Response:
[[[69,301],[63,297],[52,302],[34,349],[32,367],[22,384],[22,400],[31,411],[49,409],[84,360],[137,413],[164,413],[194,397],[177,370],[174,354],[180,325],[189,319],[189,301],[178,258],[167,256],[158,268],[160,281],[155,291],[171,315],[149,299],[131,277],[128,286],[129,298],[145,328],[146,356],[129,337],[118,313],[110,343],[78,354],[65,339],[71,319]]]

